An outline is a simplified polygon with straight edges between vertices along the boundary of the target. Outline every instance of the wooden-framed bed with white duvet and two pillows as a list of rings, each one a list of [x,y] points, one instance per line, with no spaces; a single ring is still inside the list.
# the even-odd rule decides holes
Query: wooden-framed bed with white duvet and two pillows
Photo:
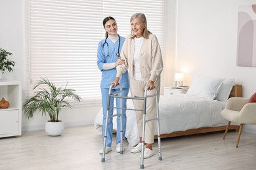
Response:
[[[227,122],[221,116],[221,110],[224,109],[226,100],[228,97],[242,97],[242,86],[234,83],[235,80],[230,78],[196,76],[186,94],[160,95],[161,138],[224,131]],[[127,108],[133,109],[133,103],[129,99]],[[116,129],[116,117],[113,123],[113,128]],[[95,128],[102,130],[102,110],[95,117]],[[238,126],[230,126],[229,129],[237,130]],[[139,143],[136,114],[133,110],[127,110],[125,137],[129,146]]]

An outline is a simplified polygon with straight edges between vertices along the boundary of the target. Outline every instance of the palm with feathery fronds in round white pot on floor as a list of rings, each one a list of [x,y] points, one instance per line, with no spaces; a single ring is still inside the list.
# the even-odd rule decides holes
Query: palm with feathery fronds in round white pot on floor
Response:
[[[50,120],[45,124],[45,131],[48,135],[58,136],[63,132],[64,123],[58,120],[58,115],[63,107],[72,107],[67,99],[81,101],[81,97],[75,93],[75,90],[67,88],[67,85],[68,82],[65,88],[57,88],[48,78],[41,78],[33,88],[36,90],[35,95],[26,99],[22,105],[26,118],[33,118],[37,111],[42,115],[49,114]],[[56,125],[60,127],[53,127]],[[54,129],[56,132],[51,131]]]

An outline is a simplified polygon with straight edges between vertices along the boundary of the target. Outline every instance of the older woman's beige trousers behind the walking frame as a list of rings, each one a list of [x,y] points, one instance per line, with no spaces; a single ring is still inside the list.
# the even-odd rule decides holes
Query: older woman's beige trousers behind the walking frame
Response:
[[[144,97],[144,92],[148,81],[144,80],[134,80],[130,78],[130,90],[132,97]],[[154,82],[156,88],[158,88],[158,100],[160,97],[160,78]],[[156,93],[156,88],[154,90],[148,91],[147,95],[152,95]],[[133,99],[133,105],[135,109],[143,109],[143,100]],[[142,125],[143,125],[143,112],[136,111],[137,126],[139,131],[139,137],[142,137]],[[147,97],[146,99],[146,120],[150,118],[156,118],[156,97]],[[145,143],[154,143],[154,133],[155,133],[156,120],[146,122],[145,126]]]

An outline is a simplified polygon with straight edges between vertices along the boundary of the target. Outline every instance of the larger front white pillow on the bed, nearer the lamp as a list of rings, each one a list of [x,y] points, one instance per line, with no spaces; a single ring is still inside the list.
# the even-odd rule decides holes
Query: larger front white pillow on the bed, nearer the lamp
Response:
[[[222,78],[210,78],[197,75],[186,94],[197,95],[205,99],[215,99],[223,80]]]

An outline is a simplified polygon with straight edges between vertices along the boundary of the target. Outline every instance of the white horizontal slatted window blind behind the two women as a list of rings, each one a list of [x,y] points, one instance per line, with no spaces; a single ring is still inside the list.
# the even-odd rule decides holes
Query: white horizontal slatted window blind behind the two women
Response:
[[[130,31],[130,18],[142,12],[158,37],[165,58],[165,0],[26,0],[26,97],[46,77],[56,86],[76,90],[82,105],[101,102],[101,72],[96,65],[102,20],[113,16],[119,35]],[[163,80],[163,78],[162,78]]]

